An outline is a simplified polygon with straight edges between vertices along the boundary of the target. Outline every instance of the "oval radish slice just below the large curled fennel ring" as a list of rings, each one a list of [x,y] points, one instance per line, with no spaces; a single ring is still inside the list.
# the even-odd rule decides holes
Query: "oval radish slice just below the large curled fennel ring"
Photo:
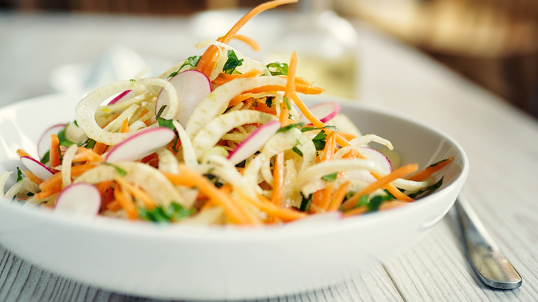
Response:
[[[142,159],[170,143],[175,135],[173,130],[166,127],[142,130],[115,145],[105,159],[108,162]]]

